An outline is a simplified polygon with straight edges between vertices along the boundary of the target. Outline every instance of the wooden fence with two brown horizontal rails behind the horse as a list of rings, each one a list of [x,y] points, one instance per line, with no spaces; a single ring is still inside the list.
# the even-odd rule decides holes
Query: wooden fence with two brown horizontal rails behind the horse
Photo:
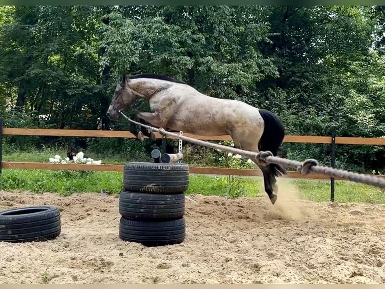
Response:
[[[122,165],[86,165],[86,164],[51,164],[51,163],[33,163],[33,162],[3,162],[2,161],[2,136],[3,135],[30,135],[30,136],[76,136],[76,137],[124,137],[135,138],[129,131],[114,130],[81,130],[81,129],[46,129],[46,128],[8,128],[2,125],[0,119],[0,173],[3,169],[39,169],[39,170],[85,170],[85,171],[123,171]],[[157,138],[162,135],[155,133]],[[202,140],[231,140],[230,135],[204,136],[184,133],[183,135],[202,139]],[[168,137],[177,138],[177,137]],[[164,139],[164,138],[163,138]],[[164,139],[165,141],[165,139]],[[299,143],[330,143],[332,147],[332,167],[335,164],[335,144],[359,144],[359,145],[377,145],[384,146],[385,138],[380,137],[340,137],[335,136],[335,127],[332,129],[331,136],[313,136],[313,135],[286,135],[283,142]],[[259,169],[229,169],[213,167],[189,167],[192,174],[214,174],[214,175],[238,175],[238,176],[261,176]],[[334,178],[324,175],[310,174],[301,175],[299,172],[288,171],[287,177],[299,179],[323,179],[331,181],[331,200],[334,201]],[[385,176],[378,176],[385,177]],[[339,178],[336,178],[339,179]]]

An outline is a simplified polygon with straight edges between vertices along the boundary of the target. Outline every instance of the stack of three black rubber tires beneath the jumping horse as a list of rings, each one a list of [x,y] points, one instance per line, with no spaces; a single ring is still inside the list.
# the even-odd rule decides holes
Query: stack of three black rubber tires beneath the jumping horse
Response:
[[[126,163],[119,197],[119,237],[144,246],[182,243],[188,175],[184,163]]]

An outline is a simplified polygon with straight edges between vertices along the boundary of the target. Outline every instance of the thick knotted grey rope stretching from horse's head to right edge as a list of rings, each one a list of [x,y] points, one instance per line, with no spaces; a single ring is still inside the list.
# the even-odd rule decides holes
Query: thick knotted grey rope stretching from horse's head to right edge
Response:
[[[222,146],[221,144],[212,143],[209,141],[204,141],[201,139],[188,137],[185,135],[178,135],[176,133],[166,131],[164,128],[156,128],[156,127],[152,127],[152,126],[137,122],[137,121],[132,120],[131,118],[127,117],[120,110],[119,110],[119,112],[127,120],[129,120],[135,124],[141,125],[143,127],[146,127],[148,129],[152,129],[153,131],[159,132],[162,135],[170,135],[170,136],[174,136],[174,137],[179,138],[179,139],[184,139],[184,140],[189,141],[189,142],[200,144],[201,146],[226,151],[229,153],[238,154],[238,155],[244,156],[246,158],[255,160],[259,163],[261,163],[261,162],[262,163],[263,162],[264,163],[273,163],[273,164],[277,164],[277,165],[281,165],[281,166],[285,166],[285,167],[290,167],[290,168],[296,169],[302,175],[308,175],[310,173],[318,173],[318,174],[327,175],[327,176],[330,176],[333,178],[339,177],[339,178],[346,179],[349,181],[364,183],[367,185],[371,185],[371,186],[385,189],[385,179],[382,179],[382,178],[378,178],[378,177],[366,175],[366,174],[353,173],[353,172],[349,172],[346,170],[334,169],[332,167],[320,166],[318,164],[318,161],[314,160],[314,159],[308,159],[308,160],[305,160],[304,162],[298,162],[298,161],[274,157],[273,154],[269,151],[255,153],[255,152],[240,150],[237,148]]]

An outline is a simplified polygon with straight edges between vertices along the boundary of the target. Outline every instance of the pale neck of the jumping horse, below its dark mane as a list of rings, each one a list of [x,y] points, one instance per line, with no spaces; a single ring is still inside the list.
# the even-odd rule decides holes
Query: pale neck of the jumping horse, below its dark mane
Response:
[[[149,101],[150,98],[162,90],[169,88],[173,83],[158,79],[133,79],[130,87],[137,92],[141,98]]]

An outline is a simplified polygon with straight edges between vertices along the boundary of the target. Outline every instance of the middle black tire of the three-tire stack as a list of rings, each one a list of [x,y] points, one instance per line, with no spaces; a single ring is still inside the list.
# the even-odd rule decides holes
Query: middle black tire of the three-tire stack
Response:
[[[123,190],[119,196],[119,213],[135,220],[178,219],[184,215],[184,193],[143,194]]]

